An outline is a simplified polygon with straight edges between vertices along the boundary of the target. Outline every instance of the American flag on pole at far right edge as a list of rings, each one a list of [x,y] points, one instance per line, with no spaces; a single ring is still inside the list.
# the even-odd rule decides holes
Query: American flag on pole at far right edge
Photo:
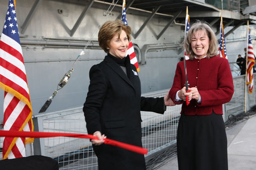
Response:
[[[249,85],[249,93],[253,93],[254,89],[254,65],[255,65],[255,57],[254,57],[254,49],[253,44],[250,36],[250,29],[248,28],[248,47],[247,47],[247,85]]]

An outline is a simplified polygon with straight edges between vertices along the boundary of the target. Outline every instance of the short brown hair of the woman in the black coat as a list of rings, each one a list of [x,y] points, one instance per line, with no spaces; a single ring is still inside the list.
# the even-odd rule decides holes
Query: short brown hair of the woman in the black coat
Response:
[[[110,44],[110,40],[118,33],[119,37],[120,34],[124,30],[127,34],[128,41],[130,42],[130,27],[125,25],[123,21],[116,20],[116,21],[107,21],[105,22],[98,34],[98,41],[100,47],[104,50],[104,52],[108,53],[109,50],[107,49]]]

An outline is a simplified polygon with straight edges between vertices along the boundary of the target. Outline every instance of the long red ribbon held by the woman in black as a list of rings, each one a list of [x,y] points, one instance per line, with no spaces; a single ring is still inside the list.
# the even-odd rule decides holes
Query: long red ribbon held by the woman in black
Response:
[[[98,139],[93,135],[77,134],[77,133],[54,133],[54,132],[29,132],[29,131],[14,131],[14,130],[0,130],[0,137],[31,137],[31,138],[44,138],[44,137],[76,137],[76,138],[87,138],[87,139]],[[112,139],[105,139],[105,144],[117,146],[120,148],[127,149],[138,154],[146,155],[147,149],[130,145],[127,143],[119,142]]]

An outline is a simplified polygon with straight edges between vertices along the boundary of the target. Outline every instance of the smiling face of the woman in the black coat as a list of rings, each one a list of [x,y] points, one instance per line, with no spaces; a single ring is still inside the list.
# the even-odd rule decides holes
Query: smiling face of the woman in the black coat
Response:
[[[110,40],[109,53],[118,58],[126,57],[127,48],[129,45],[127,34],[122,30],[120,37],[118,33]]]

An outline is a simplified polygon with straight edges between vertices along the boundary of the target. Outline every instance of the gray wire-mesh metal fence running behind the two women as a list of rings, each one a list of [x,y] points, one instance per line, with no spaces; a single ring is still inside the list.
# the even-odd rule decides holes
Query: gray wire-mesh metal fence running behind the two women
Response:
[[[232,100],[224,105],[223,118],[226,120],[230,114],[245,111],[245,76],[234,79],[235,93]],[[256,74],[254,74],[256,83]],[[143,94],[145,97],[161,97],[168,89]],[[248,110],[256,105],[256,87],[253,94],[247,94]],[[181,105],[167,107],[164,114],[141,112],[142,118],[142,144],[148,149],[149,156],[167,146],[176,143],[178,119]],[[87,134],[86,123],[82,107],[70,110],[44,113],[34,116],[35,131],[64,132]],[[2,147],[2,138],[0,140]],[[33,154],[44,155],[58,161],[60,170],[97,170],[97,157],[95,156],[89,139],[52,137],[35,139]]]

